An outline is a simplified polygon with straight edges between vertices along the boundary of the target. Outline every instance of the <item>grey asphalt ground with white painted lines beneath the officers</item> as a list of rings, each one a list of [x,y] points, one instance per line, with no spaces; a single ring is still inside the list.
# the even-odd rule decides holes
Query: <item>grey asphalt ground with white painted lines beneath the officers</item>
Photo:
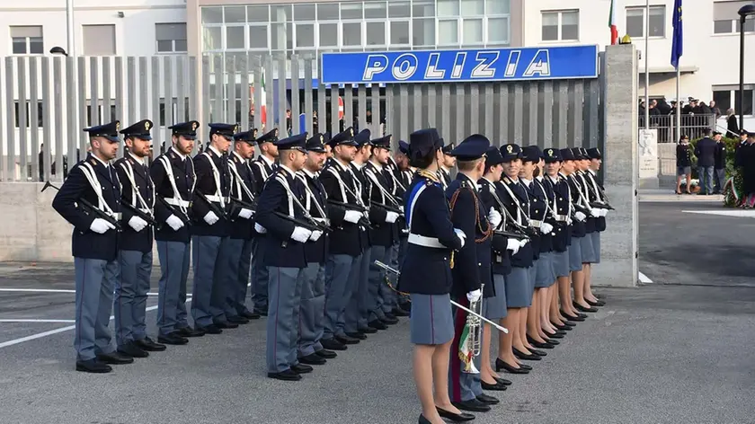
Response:
[[[475,422],[755,422],[755,221],[681,212],[692,209],[720,208],[641,204],[641,270],[654,283],[600,289],[608,305],[529,375],[503,374],[513,385],[489,393],[502,402]],[[420,412],[405,318],[295,383],[265,376],[263,319],[88,375],[74,371],[73,331],[60,331],[72,322],[3,321],[71,320],[73,293],[7,291],[20,288],[72,290],[73,269],[0,264],[2,423],[412,423]],[[154,335],[154,310],[147,325]]]

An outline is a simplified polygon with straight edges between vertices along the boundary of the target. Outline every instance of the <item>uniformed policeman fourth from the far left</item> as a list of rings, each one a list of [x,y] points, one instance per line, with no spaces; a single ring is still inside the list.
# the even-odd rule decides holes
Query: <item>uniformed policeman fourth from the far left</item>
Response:
[[[231,140],[238,132],[234,124],[209,124],[209,146],[194,156],[197,185],[191,213],[191,262],[194,269],[191,316],[199,330],[219,334],[224,328],[236,328],[228,322],[223,310],[225,304],[228,269],[228,195],[231,174],[226,155]]]

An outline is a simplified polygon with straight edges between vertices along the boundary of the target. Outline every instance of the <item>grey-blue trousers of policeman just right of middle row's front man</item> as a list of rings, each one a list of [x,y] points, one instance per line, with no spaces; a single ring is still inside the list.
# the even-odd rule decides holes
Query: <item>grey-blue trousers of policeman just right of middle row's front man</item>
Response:
[[[325,320],[324,264],[306,264],[299,316],[298,356],[301,358],[323,349],[320,340],[323,338]]]

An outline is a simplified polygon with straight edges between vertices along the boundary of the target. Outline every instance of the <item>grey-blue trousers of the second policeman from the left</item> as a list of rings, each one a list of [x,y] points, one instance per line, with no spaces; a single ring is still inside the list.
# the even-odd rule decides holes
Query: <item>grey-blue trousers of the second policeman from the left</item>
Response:
[[[147,337],[147,292],[152,275],[152,252],[120,251],[120,279],[115,282],[115,343]]]

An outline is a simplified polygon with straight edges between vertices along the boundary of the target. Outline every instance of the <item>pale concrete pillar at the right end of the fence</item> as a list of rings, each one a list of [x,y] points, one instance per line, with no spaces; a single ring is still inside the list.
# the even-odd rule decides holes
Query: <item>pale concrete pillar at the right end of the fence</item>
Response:
[[[632,44],[608,46],[602,64],[605,140],[603,172],[606,194],[616,210],[600,235],[600,264],[593,267],[595,286],[637,284],[637,55]]]

